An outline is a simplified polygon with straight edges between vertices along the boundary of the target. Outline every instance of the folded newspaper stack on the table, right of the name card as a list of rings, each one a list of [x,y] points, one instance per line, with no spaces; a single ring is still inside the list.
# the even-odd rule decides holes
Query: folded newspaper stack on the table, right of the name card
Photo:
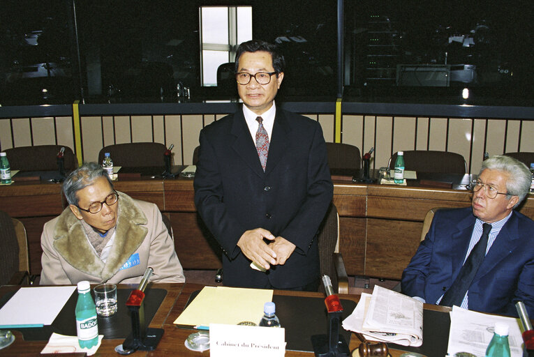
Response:
[[[419,347],[423,344],[423,303],[375,286],[372,295],[362,293],[353,313],[343,320],[343,328],[367,340]]]

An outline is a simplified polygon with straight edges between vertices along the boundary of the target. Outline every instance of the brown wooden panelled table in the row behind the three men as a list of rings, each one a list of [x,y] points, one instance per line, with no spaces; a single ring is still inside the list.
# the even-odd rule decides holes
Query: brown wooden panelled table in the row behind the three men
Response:
[[[183,168],[177,167],[174,172]],[[153,202],[170,218],[181,265],[185,269],[221,268],[221,248],[195,208],[193,179],[180,175],[164,179],[132,171],[119,172],[114,188]],[[376,175],[376,171],[371,172]],[[358,175],[333,175],[333,202],[340,217],[339,251],[348,275],[394,280],[400,279],[417,250],[427,211],[470,206],[472,193],[466,186],[475,178],[418,172],[417,180],[407,180],[403,186],[353,181]],[[59,215],[67,202],[60,183],[23,181],[17,176],[13,179],[12,185],[0,185],[0,209],[26,227],[30,273],[39,274],[43,225]],[[519,212],[534,219],[534,194],[528,195]]]

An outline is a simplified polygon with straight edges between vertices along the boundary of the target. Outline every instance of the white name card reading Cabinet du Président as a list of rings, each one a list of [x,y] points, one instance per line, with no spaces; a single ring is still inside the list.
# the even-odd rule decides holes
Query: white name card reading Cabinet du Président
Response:
[[[283,357],[285,328],[209,324],[209,356]]]

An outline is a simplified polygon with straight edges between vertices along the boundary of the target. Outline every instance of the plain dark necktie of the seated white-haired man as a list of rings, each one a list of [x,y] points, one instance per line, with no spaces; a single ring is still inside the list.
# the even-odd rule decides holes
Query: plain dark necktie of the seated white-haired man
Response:
[[[473,250],[471,250],[469,257],[467,257],[466,262],[461,267],[456,280],[454,280],[451,287],[445,291],[445,294],[443,294],[440,305],[461,305],[463,297],[466,296],[466,292],[468,291],[471,282],[473,282],[473,278],[475,278],[478,267],[486,255],[489,231],[491,231],[491,225],[484,223],[482,225],[482,236],[480,236],[479,241],[475,244]]]

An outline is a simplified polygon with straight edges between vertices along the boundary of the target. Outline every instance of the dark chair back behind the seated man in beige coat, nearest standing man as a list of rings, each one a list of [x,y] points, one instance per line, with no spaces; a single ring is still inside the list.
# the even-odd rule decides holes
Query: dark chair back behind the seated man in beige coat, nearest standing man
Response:
[[[165,166],[164,153],[167,148],[159,142],[130,142],[104,146],[98,153],[98,163],[104,160],[104,154],[110,153],[114,166],[151,167]],[[172,165],[172,162],[171,162]]]

